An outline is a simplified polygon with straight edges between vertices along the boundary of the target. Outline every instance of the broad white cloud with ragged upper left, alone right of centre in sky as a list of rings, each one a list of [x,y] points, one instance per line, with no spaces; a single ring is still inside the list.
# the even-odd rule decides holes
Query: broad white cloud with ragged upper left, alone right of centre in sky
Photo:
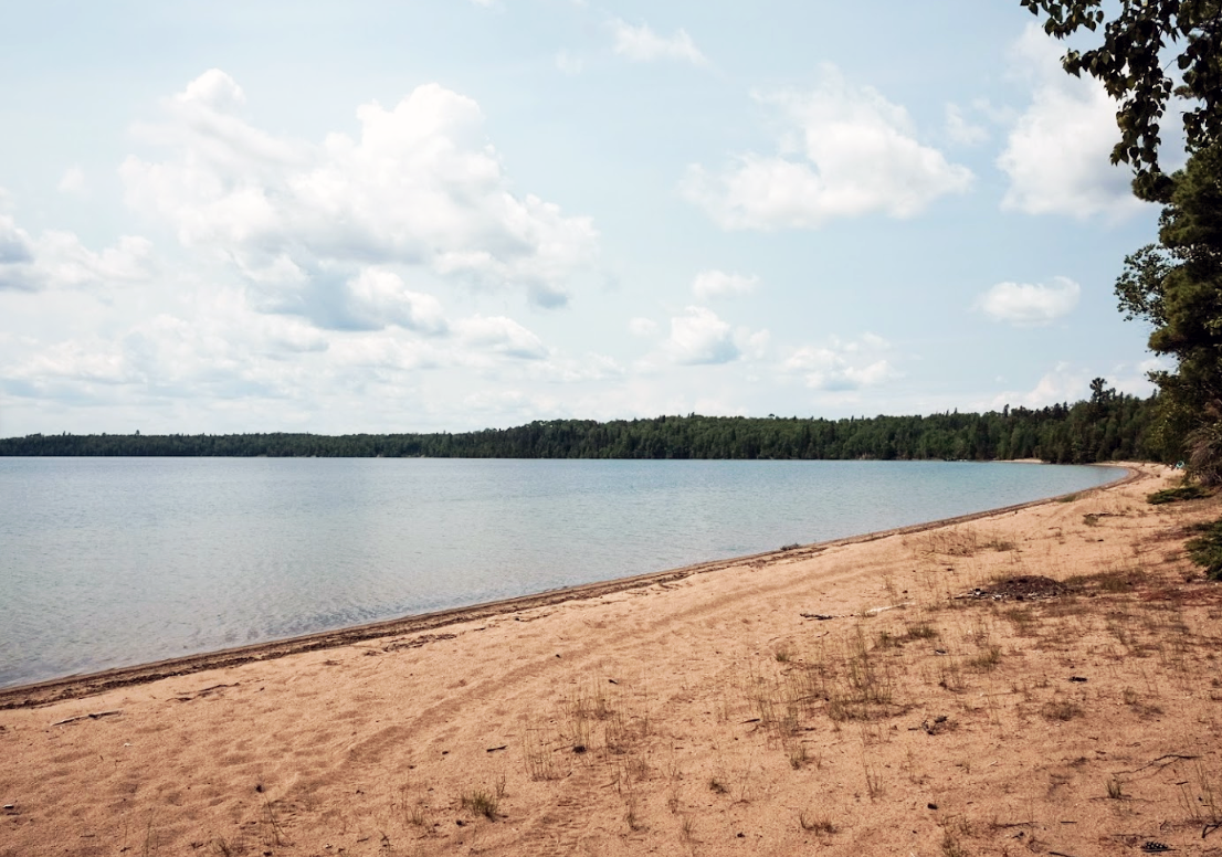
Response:
[[[796,143],[782,140],[777,155],[742,155],[719,176],[688,168],[687,197],[723,228],[813,230],[875,212],[912,217],[971,184],[967,167],[916,142],[907,110],[849,84],[833,66],[809,93],[755,98],[785,116]]]

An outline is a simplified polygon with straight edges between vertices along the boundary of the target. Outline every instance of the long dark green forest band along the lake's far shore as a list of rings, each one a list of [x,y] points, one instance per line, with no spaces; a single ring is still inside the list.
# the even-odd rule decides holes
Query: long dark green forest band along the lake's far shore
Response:
[[[1037,410],[875,416],[657,416],[545,420],[435,435],[29,435],[0,455],[224,455],[335,458],[945,459],[1039,458],[1057,464],[1160,459],[1156,398],[1091,385],[1091,398]]]

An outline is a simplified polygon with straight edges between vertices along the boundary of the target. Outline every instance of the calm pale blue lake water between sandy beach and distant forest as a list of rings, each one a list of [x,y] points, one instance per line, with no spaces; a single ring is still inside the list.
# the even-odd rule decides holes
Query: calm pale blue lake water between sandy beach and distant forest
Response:
[[[0,686],[1112,481],[931,461],[0,458]]]

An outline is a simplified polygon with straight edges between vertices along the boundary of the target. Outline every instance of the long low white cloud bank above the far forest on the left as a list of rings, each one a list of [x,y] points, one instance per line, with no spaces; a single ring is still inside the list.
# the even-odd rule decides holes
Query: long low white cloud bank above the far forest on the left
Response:
[[[357,291],[402,293],[385,277],[364,280],[354,283]],[[429,383],[423,372],[444,378],[436,381],[444,387],[434,400],[452,405],[452,387],[464,383],[473,369],[492,386],[535,367],[546,381],[561,383],[622,371],[613,360],[596,355],[580,363],[556,358],[534,332],[503,316],[461,319],[446,334],[422,337],[398,325],[321,331],[301,317],[253,311],[238,288],[200,291],[186,303],[172,314],[115,324],[114,334],[44,341],[37,347],[9,343],[0,391],[38,402],[109,408],[187,399],[192,408],[210,408],[241,399],[284,420],[293,409],[335,409],[336,403],[359,405],[360,414],[395,410],[393,402],[418,396],[419,385]],[[437,310],[429,300],[412,304],[418,324],[428,317],[423,310]],[[420,407],[413,399],[409,409],[419,415]],[[324,419],[336,418],[341,424],[346,419]]]

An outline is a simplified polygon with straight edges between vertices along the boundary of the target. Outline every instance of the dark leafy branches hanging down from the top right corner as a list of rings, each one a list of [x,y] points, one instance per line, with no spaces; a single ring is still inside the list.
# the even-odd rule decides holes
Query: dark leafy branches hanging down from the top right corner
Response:
[[[1174,94],[1190,104],[1184,133],[1190,151],[1204,149],[1222,132],[1222,2],[1220,0],[1020,0],[1046,18],[1044,31],[1064,39],[1102,26],[1102,44],[1070,49],[1062,59],[1074,76],[1097,78],[1119,105],[1121,140],[1112,162],[1133,165],[1138,195],[1166,201],[1169,186],[1158,170],[1161,120]],[[1105,7],[1107,11],[1105,11]],[[1112,12],[1108,20],[1108,12]],[[1174,43],[1179,85],[1167,73],[1163,49]]]

